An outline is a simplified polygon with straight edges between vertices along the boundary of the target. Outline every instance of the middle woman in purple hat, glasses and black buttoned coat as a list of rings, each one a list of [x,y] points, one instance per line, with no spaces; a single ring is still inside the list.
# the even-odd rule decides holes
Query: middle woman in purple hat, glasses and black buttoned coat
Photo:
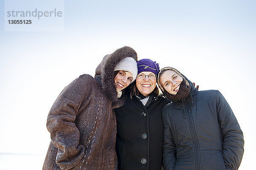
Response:
[[[159,66],[149,59],[138,61],[131,97],[115,110],[116,155],[119,170],[160,170],[162,164],[162,108],[169,103],[156,86]]]

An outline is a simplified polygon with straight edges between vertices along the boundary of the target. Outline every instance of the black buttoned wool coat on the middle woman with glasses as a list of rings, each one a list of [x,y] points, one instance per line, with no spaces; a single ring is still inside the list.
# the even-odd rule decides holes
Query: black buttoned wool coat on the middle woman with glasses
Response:
[[[162,164],[162,108],[167,98],[150,95],[144,106],[128,97],[116,113],[116,154],[119,170],[160,170]]]

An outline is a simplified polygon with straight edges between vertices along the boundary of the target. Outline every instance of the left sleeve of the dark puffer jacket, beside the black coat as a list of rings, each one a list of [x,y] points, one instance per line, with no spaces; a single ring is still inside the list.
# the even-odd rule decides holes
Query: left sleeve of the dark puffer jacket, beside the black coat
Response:
[[[163,167],[164,170],[173,170],[176,161],[176,145],[172,137],[172,131],[168,124],[168,109],[162,109],[163,118]]]

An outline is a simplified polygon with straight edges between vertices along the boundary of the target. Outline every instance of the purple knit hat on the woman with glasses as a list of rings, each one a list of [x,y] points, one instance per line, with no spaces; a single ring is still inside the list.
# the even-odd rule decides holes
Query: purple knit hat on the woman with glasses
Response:
[[[150,59],[141,59],[137,62],[138,74],[141,72],[153,72],[155,75],[159,73],[159,64]]]

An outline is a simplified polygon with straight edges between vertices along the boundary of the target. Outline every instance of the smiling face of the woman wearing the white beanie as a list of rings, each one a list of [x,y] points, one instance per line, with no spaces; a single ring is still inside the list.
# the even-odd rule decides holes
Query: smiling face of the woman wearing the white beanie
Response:
[[[132,74],[131,72],[122,71],[120,70],[114,78],[116,90],[120,92],[125,87],[129,86],[132,81]]]

